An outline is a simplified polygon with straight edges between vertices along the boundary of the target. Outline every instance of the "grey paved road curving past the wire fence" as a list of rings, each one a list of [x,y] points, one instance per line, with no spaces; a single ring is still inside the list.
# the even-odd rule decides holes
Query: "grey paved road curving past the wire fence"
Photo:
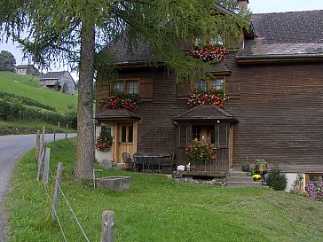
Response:
[[[75,137],[76,134],[68,134]],[[65,138],[65,134],[58,134],[56,138]],[[46,134],[45,141],[51,141],[53,135]],[[23,153],[35,147],[35,135],[0,136],[0,242],[6,241],[4,234],[4,194],[9,188],[12,170]]]

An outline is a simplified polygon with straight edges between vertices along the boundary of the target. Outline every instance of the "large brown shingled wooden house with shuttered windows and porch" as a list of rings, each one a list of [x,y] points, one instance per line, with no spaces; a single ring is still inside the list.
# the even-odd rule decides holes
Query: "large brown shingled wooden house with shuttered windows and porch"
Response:
[[[248,1],[240,1],[247,4]],[[323,11],[254,14],[251,35],[240,50],[231,50],[215,65],[213,79],[177,84],[145,44],[129,54],[114,43],[119,80],[97,83],[97,98],[114,88],[142,98],[137,112],[103,110],[100,127],[114,137],[111,159],[122,152],[173,152],[187,164],[185,147],[192,139],[209,138],[217,161],[196,170],[240,170],[244,161],[267,160],[288,173],[289,187],[297,173],[308,181],[323,180]],[[225,108],[190,108],[192,88],[217,86],[227,98]],[[98,132],[98,131],[97,131]]]

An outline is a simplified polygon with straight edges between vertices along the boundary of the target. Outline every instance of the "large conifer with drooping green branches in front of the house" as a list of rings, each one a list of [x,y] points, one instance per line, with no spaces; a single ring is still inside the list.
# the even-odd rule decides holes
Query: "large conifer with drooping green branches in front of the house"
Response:
[[[28,58],[41,66],[66,60],[79,70],[76,178],[92,178],[94,73],[115,76],[117,53],[101,50],[126,35],[130,51],[146,42],[178,78],[199,80],[204,76],[201,69],[211,66],[181,51],[178,43],[192,43],[197,36],[209,42],[219,35],[229,43],[249,26],[245,12],[216,12],[214,4],[220,2],[228,8],[237,4],[236,0],[0,0],[2,30],[21,44]],[[28,32],[24,39],[22,31]]]

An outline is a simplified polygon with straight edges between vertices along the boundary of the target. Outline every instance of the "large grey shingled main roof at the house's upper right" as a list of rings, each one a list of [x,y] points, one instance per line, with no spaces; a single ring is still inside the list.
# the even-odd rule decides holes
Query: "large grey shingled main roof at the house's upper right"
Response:
[[[254,14],[255,39],[237,59],[323,58],[323,10]]]

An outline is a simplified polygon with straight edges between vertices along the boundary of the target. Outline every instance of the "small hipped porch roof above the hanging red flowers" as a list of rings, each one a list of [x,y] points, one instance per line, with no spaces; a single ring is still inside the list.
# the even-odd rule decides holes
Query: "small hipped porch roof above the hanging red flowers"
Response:
[[[177,115],[172,121],[238,121],[231,113],[217,105],[198,105]]]

